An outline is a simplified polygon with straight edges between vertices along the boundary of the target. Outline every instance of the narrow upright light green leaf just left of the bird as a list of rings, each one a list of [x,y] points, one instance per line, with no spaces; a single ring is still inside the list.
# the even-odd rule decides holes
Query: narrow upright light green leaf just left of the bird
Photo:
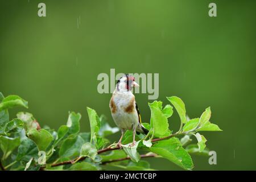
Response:
[[[87,112],[90,121],[90,142],[92,143],[94,133],[97,135],[100,130],[100,118],[98,117],[95,110],[87,107]]]

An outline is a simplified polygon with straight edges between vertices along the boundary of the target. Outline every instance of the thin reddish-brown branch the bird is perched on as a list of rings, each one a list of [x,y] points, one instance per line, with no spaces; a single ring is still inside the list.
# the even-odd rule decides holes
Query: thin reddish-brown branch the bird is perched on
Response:
[[[172,137],[175,137],[175,136],[181,135],[181,134],[184,134],[184,133],[175,133],[175,134],[171,134],[167,137],[152,139],[151,142],[159,142],[161,140],[167,140],[169,138],[172,138]],[[116,147],[113,147],[113,148],[109,146],[109,147],[103,148],[101,150],[98,150],[98,154],[102,154],[104,152],[108,152],[108,151],[112,151],[112,150],[119,150],[119,149],[121,149],[121,147],[119,147],[119,146],[116,146]],[[143,157],[146,158],[146,156],[143,156]],[[56,163],[56,164],[51,164],[51,167],[63,166],[63,165],[66,165],[66,164],[73,164],[75,162],[82,161],[85,158],[86,158],[86,156],[85,157],[78,157],[78,158],[73,159],[73,160],[67,160],[67,161],[64,161],[64,162]],[[126,158],[130,159],[128,156]],[[126,158],[122,158],[122,160],[127,160]],[[44,168],[46,168],[46,166],[42,166],[40,169],[44,169]]]

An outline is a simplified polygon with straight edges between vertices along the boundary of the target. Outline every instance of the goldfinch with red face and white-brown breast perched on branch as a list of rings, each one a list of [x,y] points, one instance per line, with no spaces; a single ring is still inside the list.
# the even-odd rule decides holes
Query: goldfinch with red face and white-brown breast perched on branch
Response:
[[[118,147],[122,146],[122,138],[126,130],[133,131],[133,143],[130,144],[131,147],[136,144],[136,133],[145,135],[148,133],[148,130],[142,125],[141,114],[139,113],[135,96],[131,92],[136,86],[139,86],[139,84],[135,82],[134,76],[125,74],[117,81],[110,99],[109,107],[113,120],[122,133],[117,143]]]

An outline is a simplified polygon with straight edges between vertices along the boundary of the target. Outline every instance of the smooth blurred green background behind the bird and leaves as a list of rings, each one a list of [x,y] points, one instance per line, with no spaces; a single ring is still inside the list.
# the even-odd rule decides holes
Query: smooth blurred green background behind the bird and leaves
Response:
[[[38,3],[46,3],[46,17]],[[208,16],[210,2],[217,17]],[[217,165],[193,156],[195,170],[256,169],[256,1],[33,1],[1,0],[0,91],[18,94],[41,125],[57,129],[68,111],[86,106],[105,114],[111,94],[99,94],[99,73],[159,73],[159,98],[183,99],[189,117],[211,106],[222,132],[204,135]],[[80,23],[77,20],[80,17]],[[79,24],[78,24],[79,23]],[[136,94],[149,122],[148,94]],[[15,117],[20,108],[11,110]],[[175,112],[170,127],[179,128]],[[120,133],[112,139],[118,140]],[[181,169],[166,159],[151,168]]]

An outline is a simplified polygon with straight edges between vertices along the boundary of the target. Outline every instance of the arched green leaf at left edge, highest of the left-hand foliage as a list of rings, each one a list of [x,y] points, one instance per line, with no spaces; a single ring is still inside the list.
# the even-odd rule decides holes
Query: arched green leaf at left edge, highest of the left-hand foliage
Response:
[[[7,96],[0,103],[0,111],[5,109],[11,109],[16,106],[22,106],[22,107],[28,108],[28,103],[27,101],[23,100],[19,96],[15,96],[15,95]]]

